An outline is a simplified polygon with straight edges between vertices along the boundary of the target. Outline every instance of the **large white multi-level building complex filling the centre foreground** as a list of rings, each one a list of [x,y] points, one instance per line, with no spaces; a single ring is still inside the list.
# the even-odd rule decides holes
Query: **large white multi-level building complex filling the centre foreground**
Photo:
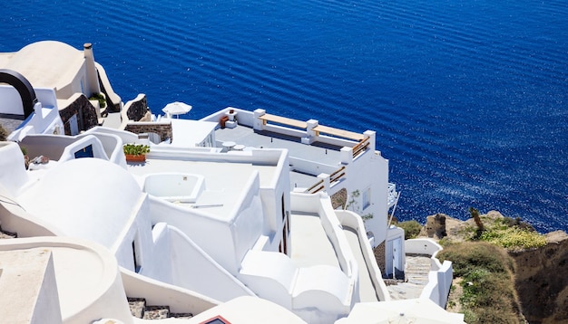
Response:
[[[391,246],[388,257],[397,255],[387,273],[404,268],[397,241],[404,237],[388,228],[397,192],[373,131],[234,108],[200,121],[132,123],[156,126],[170,129],[170,138],[98,127],[77,136],[28,132],[19,145],[0,143],[0,225],[28,240],[21,247],[0,243],[0,251],[51,251],[53,260],[41,259],[37,269],[52,283],[38,283],[36,296],[40,307],[52,309],[45,296],[58,294],[55,322],[137,321],[125,296],[199,314],[178,319],[188,323],[217,315],[224,323],[260,322],[268,310],[278,314],[271,321],[329,323],[352,318],[360,302],[390,300],[372,248],[382,243]],[[149,145],[146,161],[127,163],[126,143]],[[20,147],[49,159],[26,170]],[[343,204],[332,203],[337,197]],[[372,217],[364,223],[361,214]],[[64,237],[71,252],[44,236]],[[108,293],[85,293],[86,304],[112,310],[78,305],[76,295],[86,288],[73,286],[74,272],[58,270],[73,264],[68,256],[82,245],[95,252],[77,260],[99,261],[76,275],[111,278]],[[248,311],[256,315],[243,318]]]

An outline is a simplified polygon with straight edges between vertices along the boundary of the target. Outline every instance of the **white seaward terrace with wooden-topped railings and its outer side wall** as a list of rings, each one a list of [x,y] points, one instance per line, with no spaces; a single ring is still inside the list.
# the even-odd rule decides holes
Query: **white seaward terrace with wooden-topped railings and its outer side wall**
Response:
[[[325,191],[330,196],[347,191],[343,203],[352,202],[350,210],[372,216],[365,222],[372,247],[385,241],[387,214],[390,208],[394,213],[398,193],[388,183],[388,160],[376,150],[375,131],[356,133],[319,125],[315,119],[231,107],[201,120],[225,125],[215,130],[217,146],[225,150],[287,149],[292,191]]]

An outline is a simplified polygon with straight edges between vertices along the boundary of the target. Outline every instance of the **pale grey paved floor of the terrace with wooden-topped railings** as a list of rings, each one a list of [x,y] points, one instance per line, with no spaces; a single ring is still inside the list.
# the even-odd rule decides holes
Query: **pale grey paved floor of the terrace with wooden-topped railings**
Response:
[[[247,126],[239,125],[234,129],[217,129],[215,139],[221,142],[232,141],[237,145],[251,148],[286,148],[290,157],[297,157],[309,161],[339,167],[341,153],[339,147],[314,143],[306,145],[301,143],[301,138],[295,138],[269,131],[256,132]],[[309,187],[317,180],[317,176],[299,172],[290,172],[290,187]]]

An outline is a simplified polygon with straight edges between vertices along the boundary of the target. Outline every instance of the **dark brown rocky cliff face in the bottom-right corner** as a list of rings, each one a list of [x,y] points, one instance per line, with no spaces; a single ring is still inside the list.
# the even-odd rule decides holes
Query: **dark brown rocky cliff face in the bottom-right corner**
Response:
[[[510,252],[515,286],[529,323],[568,323],[568,235],[548,233],[538,249]]]

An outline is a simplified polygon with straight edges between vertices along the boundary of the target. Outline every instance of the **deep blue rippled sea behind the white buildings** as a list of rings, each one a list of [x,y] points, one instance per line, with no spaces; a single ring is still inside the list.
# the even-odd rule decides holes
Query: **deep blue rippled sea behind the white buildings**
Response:
[[[0,52],[93,43],[122,100],[377,130],[401,220],[468,207],[568,231],[565,0],[0,3]]]

